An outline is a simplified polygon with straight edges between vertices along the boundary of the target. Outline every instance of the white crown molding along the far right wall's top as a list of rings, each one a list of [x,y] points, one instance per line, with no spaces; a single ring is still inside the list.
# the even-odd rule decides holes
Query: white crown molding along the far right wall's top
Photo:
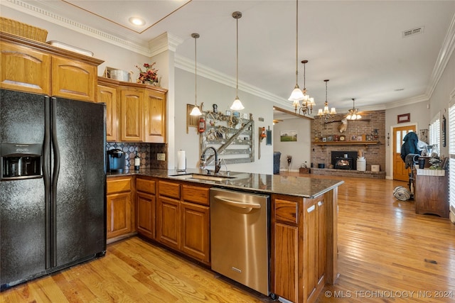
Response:
[[[452,17],[451,23],[449,25],[449,30],[447,31],[446,37],[444,38],[444,43],[442,43],[441,50],[434,65],[432,76],[430,77],[430,82],[427,87],[427,96],[428,99],[432,97],[434,89],[436,89],[439,79],[446,68],[447,63],[450,60],[452,53],[455,49],[455,14]]]

